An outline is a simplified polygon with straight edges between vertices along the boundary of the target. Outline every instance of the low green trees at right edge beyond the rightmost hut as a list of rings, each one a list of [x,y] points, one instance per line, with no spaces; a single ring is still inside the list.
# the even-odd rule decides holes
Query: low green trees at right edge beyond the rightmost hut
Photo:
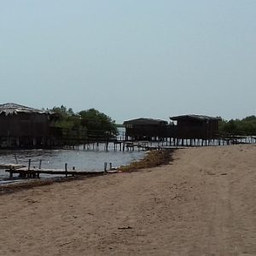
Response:
[[[219,131],[223,135],[256,135],[256,116],[247,116],[244,119],[223,120],[219,123]]]

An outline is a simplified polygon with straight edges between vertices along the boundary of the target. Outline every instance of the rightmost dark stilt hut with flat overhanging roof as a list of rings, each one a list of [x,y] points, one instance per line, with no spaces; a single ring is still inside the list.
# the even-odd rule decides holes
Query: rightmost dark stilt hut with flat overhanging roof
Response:
[[[175,125],[172,125],[172,137],[178,139],[214,139],[218,137],[218,117],[206,115],[187,114],[170,117]]]

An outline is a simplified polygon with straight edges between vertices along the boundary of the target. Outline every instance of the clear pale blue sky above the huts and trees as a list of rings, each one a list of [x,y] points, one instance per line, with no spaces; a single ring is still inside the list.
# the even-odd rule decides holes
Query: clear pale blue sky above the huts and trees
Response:
[[[0,104],[256,114],[255,0],[0,0]]]

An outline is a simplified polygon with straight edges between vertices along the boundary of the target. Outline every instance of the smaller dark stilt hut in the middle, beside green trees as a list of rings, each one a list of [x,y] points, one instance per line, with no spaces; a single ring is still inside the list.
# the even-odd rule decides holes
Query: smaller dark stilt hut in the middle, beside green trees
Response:
[[[131,119],[124,122],[126,140],[157,140],[166,136],[165,120]]]

